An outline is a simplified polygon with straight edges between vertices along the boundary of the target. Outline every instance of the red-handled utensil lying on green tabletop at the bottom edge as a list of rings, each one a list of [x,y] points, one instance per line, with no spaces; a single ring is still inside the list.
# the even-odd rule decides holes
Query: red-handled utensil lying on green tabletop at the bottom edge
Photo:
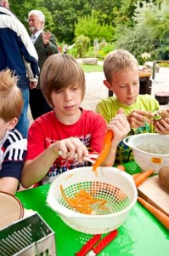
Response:
[[[76,253],[76,256],[95,256],[100,253],[104,247],[106,247],[110,241],[115,239],[118,231],[113,230],[107,236],[104,236],[103,239],[100,240],[101,235],[94,235],[91,239],[87,241],[87,243],[82,247],[82,249]],[[97,244],[95,247],[94,245]]]

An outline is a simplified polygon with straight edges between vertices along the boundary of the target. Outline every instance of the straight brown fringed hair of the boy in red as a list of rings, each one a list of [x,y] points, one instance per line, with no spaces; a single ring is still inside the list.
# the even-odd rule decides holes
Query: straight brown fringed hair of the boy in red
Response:
[[[52,92],[76,85],[82,88],[82,100],[85,95],[85,76],[82,67],[68,54],[55,54],[45,61],[40,76],[43,96],[54,108]]]

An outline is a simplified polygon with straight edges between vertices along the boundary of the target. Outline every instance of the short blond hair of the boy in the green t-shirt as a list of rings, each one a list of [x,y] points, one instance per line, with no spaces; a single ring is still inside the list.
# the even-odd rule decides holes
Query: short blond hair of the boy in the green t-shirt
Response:
[[[115,49],[106,55],[104,59],[104,75],[109,83],[112,82],[113,74],[119,71],[130,71],[138,67],[138,61],[126,49]]]

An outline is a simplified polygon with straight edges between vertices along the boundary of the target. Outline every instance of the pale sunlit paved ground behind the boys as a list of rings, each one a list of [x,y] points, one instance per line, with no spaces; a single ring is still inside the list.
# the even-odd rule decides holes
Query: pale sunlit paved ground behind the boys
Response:
[[[101,63],[99,63],[101,65]],[[95,109],[100,99],[108,96],[108,90],[103,84],[104,73],[85,73],[86,77],[86,96],[82,102],[82,107],[86,109]],[[152,82],[151,94],[155,92],[169,92],[169,68],[161,67],[160,72],[155,74],[155,80]],[[169,108],[169,104],[161,105],[161,108]],[[29,110],[30,123],[32,122],[31,112]]]

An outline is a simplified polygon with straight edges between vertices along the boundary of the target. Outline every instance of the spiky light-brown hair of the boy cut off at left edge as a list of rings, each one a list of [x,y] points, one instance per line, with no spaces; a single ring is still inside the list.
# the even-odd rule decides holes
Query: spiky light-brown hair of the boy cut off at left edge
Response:
[[[19,118],[24,100],[17,77],[9,69],[0,72],[0,118],[5,122]]]

